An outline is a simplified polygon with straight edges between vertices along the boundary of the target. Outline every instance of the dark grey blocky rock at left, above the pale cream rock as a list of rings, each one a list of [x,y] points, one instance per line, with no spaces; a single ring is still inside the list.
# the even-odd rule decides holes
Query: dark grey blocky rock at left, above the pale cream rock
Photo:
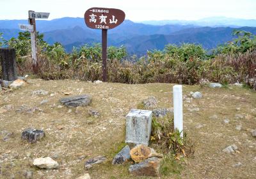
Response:
[[[44,131],[36,130],[34,128],[27,128],[21,134],[21,138],[27,140],[29,143],[35,143],[43,137],[45,137]]]

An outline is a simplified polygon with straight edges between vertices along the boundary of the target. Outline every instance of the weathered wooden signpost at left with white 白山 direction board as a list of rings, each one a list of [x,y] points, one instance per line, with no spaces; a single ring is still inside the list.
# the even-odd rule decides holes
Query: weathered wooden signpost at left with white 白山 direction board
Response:
[[[28,12],[28,22],[29,25],[33,26],[33,30],[30,31],[31,34],[31,54],[33,59],[33,72],[35,74],[38,73],[38,62],[37,62],[37,54],[36,54],[36,19],[48,19],[50,13],[46,12],[34,12],[29,11]],[[20,26],[22,27],[22,26]]]

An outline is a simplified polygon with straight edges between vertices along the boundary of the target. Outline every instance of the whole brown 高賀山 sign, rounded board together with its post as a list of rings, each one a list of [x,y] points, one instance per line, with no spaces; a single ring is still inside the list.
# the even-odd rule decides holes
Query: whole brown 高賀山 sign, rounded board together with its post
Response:
[[[102,73],[103,81],[108,81],[107,42],[108,29],[113,29],[124,22],[125,13],[112,8],[90,8],[84,13],[86,26],[92,29],[102,29]]]

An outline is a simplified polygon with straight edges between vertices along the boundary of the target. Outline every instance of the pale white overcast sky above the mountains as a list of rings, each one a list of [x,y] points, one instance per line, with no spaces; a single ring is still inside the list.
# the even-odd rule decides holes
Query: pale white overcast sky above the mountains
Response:
[[[28,19],[28,10],[50,12],[49,20],[83,17],[88,8],[118,8],[125,19],[198,20],[207,17],[256,19],[256,0],[0,0],[0,20]]]

